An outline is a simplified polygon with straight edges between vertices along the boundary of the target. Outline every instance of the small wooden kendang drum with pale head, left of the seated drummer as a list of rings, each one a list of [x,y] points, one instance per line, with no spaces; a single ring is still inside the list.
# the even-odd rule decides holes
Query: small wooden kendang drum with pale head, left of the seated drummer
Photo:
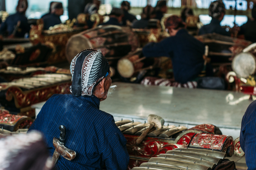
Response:
[[[137,78],[144,76],[147,70],[158,67],[160,58],[146,58],[142,55],[142,49],[129,53],[117,63],[117,70],[123,78]]]

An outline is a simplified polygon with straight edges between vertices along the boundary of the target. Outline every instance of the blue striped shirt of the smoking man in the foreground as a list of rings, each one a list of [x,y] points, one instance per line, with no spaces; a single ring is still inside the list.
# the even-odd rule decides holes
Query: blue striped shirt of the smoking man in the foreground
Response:
[[[129,155],[126,139],[113,116],[99,109],[95,97],[55,94],[42,107],[28,131],[44,134],[48,151],[53,155],[53,137],[60,136],[59,126],[66,127],[65,146],[76,152],[69,161],[60,156],[59,170],[126,170]]]

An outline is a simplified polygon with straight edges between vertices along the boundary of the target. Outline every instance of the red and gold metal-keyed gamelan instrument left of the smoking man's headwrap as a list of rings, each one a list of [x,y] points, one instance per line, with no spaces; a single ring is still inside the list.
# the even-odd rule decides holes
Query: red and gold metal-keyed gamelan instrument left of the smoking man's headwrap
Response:
[[[0,104],[15,114],[34,117],[31,105],[48,100],[53,94],[68,94],[71,75],[38,74],[0,83]]]

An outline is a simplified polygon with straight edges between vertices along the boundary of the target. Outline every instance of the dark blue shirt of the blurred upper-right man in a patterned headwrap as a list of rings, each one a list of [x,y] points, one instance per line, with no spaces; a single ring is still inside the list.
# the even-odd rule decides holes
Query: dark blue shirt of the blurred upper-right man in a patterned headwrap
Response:
[[[209,24],[202,26],[199,30],[198,35],[203,35],[207,33],[217,33],[220,35],[230,36],[230,33],[220,26],[220,20],[217,20],[215,18],[212,18],[212,21]]]

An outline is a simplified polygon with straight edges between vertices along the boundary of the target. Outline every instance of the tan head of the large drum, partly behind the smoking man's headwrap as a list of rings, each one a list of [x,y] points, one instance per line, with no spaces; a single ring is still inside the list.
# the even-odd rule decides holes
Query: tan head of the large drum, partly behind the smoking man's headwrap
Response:
[[[78,53],[85,49],[92,49],[90,41],[81,34],[76,34],[68,39],[66,44],[66,59],[71,63]]]

